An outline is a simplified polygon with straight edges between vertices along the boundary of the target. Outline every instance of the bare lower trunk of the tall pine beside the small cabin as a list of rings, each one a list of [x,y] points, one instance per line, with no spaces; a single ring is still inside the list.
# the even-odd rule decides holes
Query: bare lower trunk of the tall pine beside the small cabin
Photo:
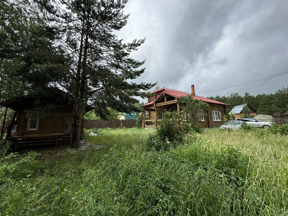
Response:
[[[71,148],[79,148],[80,144],[80,130],[81,130],[82,115],[76,108],[76,104],[73,105],[72,125],[71,125]]]

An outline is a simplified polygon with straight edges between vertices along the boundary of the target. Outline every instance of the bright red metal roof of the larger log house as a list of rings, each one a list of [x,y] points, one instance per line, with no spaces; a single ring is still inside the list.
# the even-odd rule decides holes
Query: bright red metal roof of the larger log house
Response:
[[[176,98],[180,98],[181,96],[187,96],[188,94],[191,94],[191,93],[187,93],[187,92],[182,92],[182,91],[177,91],[177,90],[173,90],[173,89],[166,89],[166,88],[161,88],[161,89],[157,89],[155,91],[152,91],[150,94],[153,94],[153,93],[156,93],[156,92],[161,92],[161,95],[163,94],[163,92],[167,93],[167,94],[170,94]],[[161,96],[159,95],[159,97]],[[148,106],[148,105],[151,105],[153,104],[154,102],[157,101],[157,99],[159,98],[157,97],[156,100],[152,101],[152,102],[149,102],[149,103],[146,103],[142,106]],[[195,95],[194,96],[195,99],[197,100],[201,100],[203,102],[208,102],[208,103],[215,103],[215,104],[222,104],[222,105],[227,105],[227,106],[230,106],[229,104],[226,104],[226,103],[222,103],[222,102],[219,102],[219,101],[215,101],[215,100],[211,100],[211,99],[208,99],[208,98],[204,98],[204,97],[201,97],[201,96],[198,96],[198,95]]]

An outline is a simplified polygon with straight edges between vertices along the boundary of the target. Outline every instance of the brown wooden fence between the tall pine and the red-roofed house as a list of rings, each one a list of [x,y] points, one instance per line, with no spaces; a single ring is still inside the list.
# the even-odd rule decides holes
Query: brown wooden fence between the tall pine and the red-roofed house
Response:
[[[117,127],[135,127],[136,119],[115,119],[104,121],[102,119],[84,120],[84,128],[86,130],[91,128],[117,128]]]

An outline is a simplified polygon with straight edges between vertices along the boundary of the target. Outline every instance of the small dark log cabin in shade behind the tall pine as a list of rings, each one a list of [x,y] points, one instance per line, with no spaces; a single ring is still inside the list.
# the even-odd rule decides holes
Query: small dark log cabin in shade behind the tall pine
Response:
[[[43,144],[71,143],[71,125],[73,105],[65,98],[65,92],[57,89],[55,95],[45,96],[35,102],[35,98],[30,95],[13,98],[0,102],[0,106],[9,107],[15,111],[15,119],[11,124],[16,124],[16,129],[8,138],[15,142],[16,147],[35,146]],[[49,110],[52,105],[53,117],[28,119],[27,110],[42,108]],[[91,106],[86,106],[86,112],[92,110]],[[83,137],[84,120],[81,122],[81,137]]]

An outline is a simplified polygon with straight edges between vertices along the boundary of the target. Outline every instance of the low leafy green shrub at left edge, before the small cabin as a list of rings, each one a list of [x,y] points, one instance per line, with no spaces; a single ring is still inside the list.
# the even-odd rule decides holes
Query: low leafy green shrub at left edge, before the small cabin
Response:
[[[34,173],[37,163],[35,157],[40,155],[30,151],[19,155],[18,153],[7,154],[9,142],[4,143],[0,149],[0,182],[6,181],[8,177],[27,178]]]

